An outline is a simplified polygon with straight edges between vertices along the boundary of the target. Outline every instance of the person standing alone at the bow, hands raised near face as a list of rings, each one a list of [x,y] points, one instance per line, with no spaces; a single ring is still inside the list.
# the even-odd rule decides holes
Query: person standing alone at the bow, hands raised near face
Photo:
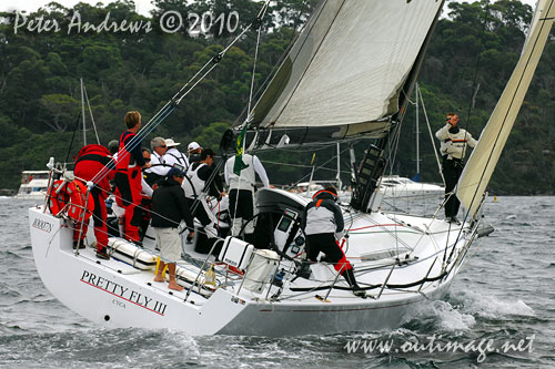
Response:
[[[463,173],[463,160],[466,155],[466,146],[475,147],[477,141],[457,126],[458,115],[447,114],[447,124],[440,129],[435,136],[441,141],[441,153],[443,157],[442,172],[445,180],[445,219],[450,223],[461,224],[456,218],[461,202],[456,197],[455,187],[461,173]]]

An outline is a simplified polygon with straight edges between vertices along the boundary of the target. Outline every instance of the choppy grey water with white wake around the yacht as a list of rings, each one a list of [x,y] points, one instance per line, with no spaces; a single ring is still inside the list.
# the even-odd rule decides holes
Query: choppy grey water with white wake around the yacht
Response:
[[[555,367],[555,197],[490,201],[486,221],[495,233],[473,246],[447,298],[421,305],[401,328],[282,339],[98,328],[42,285],[29,238],[30,205],[0,198],[0,367]],[[465,345],[492,340],[495,347],[528,337],[532,352],[491,352],[482,363],[476,350],[403,352],[402,345],[428,344],[433,335]],[[398,352],[347,353],[349,341],[371,339],[393,340]]]

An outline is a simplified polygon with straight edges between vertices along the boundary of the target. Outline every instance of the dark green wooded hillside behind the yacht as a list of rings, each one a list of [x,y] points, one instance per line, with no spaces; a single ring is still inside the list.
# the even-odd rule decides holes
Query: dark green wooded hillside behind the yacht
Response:
[[[254,91],[280,62],[315,2],[273,2],[262,23]],[[445,113],[455,111],[461,116],[460,125],[477,137],[516,63],[533,9],[516,0],[490,2],[448,1],[444,8],[418,78],[433,133],[444,124]],[[82,133],[75,132],[82,124],[80,78],[87,86],[100,142],[107,145],[119,137],[127,111],[138,110],[148,121],[242,25],[255,18],[260,8],[260,2],[252,0],[153,3],[157,8],[151,17],[138,14],[130,0],[107,6],[78,3],[73,8],[52,2],[37,12],[23,13],[24,24],[23,18],[16,19],[17,13],[0,13],[0,188],[18,188],[21,172],[46,168],[50,156],[73,161],[83,144]],[[68,34],[75,12],[82,24],[89,22],[97,28],[73,32],[73,27]],[[176,31],[162,22],[168,12],[181,16],[182,27]],[[205,14],[212,14],[210,24],[205,23]],[[110,22],[119,25],[117,31]],[[145,28],[129,24],[150,24],[151,29],[147,32]],[[234,32],[229,32],[231,29]],[[552,30],[490,184],[492,195],[555,195],[554,40]],[[181,147],[196,141],[216,150],[221,134],[242,116],[248,104],[255,41],[251,32],[233,47],[208,79],[144,140],[143,146],[153,136],[164,136],[181,142]],[[85,114],[90,126],[88,111]],[[394,174],[407,177],[415,174],[416,167],[414,115],[414,107],[410,107],[393,165]],[[420,121],[421,177],[423,182],[440,183],[422,109]],[[91,130],[88,143],[92,142],[95,139]],[[367,142],[356,144],[359,160],[366,146]],[[315,165],[330,161],[335,150],[332,146],[317,151]],[[275,150],[258,155],[265,161],[276,185],[294,183],[312,170],[313,151]],[[342,180],[349,184],[347,153],[343,156]],[[331,160],[315,172],[314,180],[334,177],[335,171],[335,160]]]

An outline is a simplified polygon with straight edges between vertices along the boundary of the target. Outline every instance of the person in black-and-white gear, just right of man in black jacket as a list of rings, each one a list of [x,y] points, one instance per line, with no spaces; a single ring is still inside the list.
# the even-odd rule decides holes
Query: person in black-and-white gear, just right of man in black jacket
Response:
[[[223,195],[218,173],[214,173],[213,168],[214,156],[215,154],[212,148],[203,148],[200,155],[201,161],[191,164],[181,185],[185,193],[189,208],[193,209],[193,215],[202,224],[204,233],[209,238],[206,245],[199,243],[199,239],[196,240],[195,250],[203,254],[210,252],[212,243],[218,236],[215,227],[218,219],[209,207],[206,192],[209,196],[218,199],[221,199]]]

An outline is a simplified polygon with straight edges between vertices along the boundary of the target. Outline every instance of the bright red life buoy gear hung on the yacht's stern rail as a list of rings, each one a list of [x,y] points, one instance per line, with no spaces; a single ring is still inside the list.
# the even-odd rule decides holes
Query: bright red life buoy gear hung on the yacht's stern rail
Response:
[[[52,215],[58,216],[63,212],[73,221],[88,221],[94,211],[92,195],[89,193],[87,201],[87,186],[78,180],[72,182],[56,181],[49,191],[48,205]],[[87,212],[84,212],[85,205]]]

